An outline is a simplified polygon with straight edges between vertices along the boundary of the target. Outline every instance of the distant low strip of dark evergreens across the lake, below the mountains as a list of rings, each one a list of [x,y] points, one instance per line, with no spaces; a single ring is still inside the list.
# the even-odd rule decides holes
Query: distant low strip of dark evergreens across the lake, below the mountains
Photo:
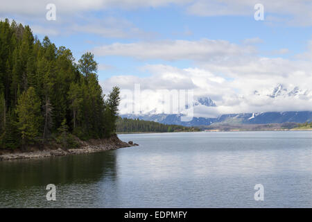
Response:
[[[154,121],[145,121],[140,119],[127,119],[119,117],[116,121],[117,133],[164,133],[164,132],[193,132],[199,131],[198,128],[165,125]]]

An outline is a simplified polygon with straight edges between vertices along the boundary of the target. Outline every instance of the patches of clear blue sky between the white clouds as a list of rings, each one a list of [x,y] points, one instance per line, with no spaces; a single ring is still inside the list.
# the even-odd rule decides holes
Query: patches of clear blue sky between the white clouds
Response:
[[[207,38],[211,40],[227,40],[235,44],[242,44],[243,40],[259,37],[261,42],[257,44],[259,54],[263,56],[272,55],[272,51],[288,49],[289,52],[279,54],[281,58],[292,58],[296,53],[306,50],[306,44],[311,39],[311,27],[286,26],[284,24],[270,24],[264,21],[255,21],[251,10],[246,16],[217,16],[200,17],[188,15],[179,6],[160,8],[144,8],[137,10],[116,10],[116,12],[101,11],[92,15],[98,19],[114,16],[130,21],[134,26],[146,33],[155,33],[153,40],[200,40]],[[300,35],[298,35],[300,33]],[[38,34],[42,39],[44,34]],[[140,36],[131,37],[105,37],[93,33],[72,33],[71,35],[50,35],[58,46],[67,46],[75,58],[79,58],[85,51],[101,44],[112,44],[114,42],[130,43],[142,40]],[[143,41],[144,41],[143,37]],[[96,56],[96,60],[107,65],[106,70],[99,70],[99,78],[105,80],[116,74],[123,75],[148,75],[139,71],[137,67],[148,64],[172,65],[174,67],[186,68],[192,65],[190,60],[175,62],[159,60],[140,61],[123,56]]]

